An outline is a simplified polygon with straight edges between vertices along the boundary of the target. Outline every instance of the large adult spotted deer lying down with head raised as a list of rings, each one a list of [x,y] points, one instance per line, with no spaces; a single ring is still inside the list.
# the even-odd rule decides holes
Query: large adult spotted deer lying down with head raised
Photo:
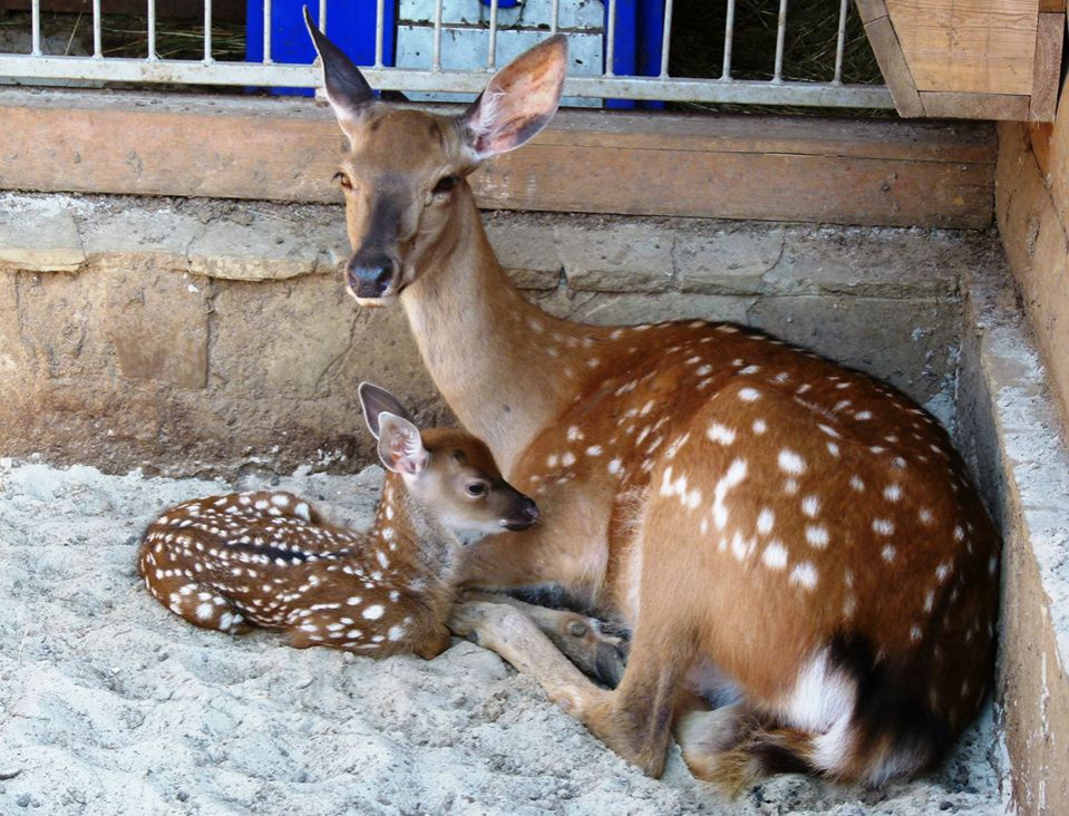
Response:
[[[350,145],[347,285],[400,303],[449,406],[542,509],[466,551],[463,583],[558,585],[634,637],[605,691],[507,608],[460,606],[456,629],[651,775],[673,719],[691,769],[729,789],[785,769],[880,785],[936,761],[984,697],[1000,550],[946,434],[757,331],[580,326],[524,301],[465,178],[550,120],[562,37],[445,116],[377,100],[310,31]]]

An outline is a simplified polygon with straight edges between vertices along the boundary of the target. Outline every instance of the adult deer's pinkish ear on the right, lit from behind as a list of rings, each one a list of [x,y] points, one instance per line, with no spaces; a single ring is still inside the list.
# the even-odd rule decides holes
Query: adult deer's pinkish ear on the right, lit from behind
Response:
[[[543,40],[497,71],[463,116],[477,158],[514,150],[534,138],[561,104],[566,71],[563,35]]]

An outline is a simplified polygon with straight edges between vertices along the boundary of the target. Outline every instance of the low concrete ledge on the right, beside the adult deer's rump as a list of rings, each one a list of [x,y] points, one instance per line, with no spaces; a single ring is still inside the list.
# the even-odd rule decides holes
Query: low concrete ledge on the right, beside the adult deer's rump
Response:
[[[1004,551],[999,705],[1020,813],[1069,813],[1069,451],[1015,292],[965,279],[960,438]]]

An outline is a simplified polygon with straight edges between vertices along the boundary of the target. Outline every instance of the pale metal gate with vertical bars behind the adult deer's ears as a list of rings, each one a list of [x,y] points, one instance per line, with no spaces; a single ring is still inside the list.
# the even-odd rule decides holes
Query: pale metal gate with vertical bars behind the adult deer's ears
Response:
[[[311,0],[314,2],[315,0]],[[333,0],[333,3],[353,0]],[[483,66],[465,70],[443,67],[443,9],[449,0],[434,0],[433,52],[426,67],[390,67],[383,64],[383,41],[388,36],[385,0],[376,1],[375,61],[365,69],[368,80],[380,89],[401,91],[477,93],[486,82],[487,71],[501,62],[498,36],[503,9],[498,0],[488,0],[485,19],[486,58]],[[430,2],[430,0],[427,0]],[[531,0],[528,0],[531,1]],[[550,3],[548,31],[561,27],[561,0]],[[815,0],[813,0],[815,1]],[[834,0],[830,0],[834,2]],[[321,28],[329,33],[327,0],[318,0]],[[565,0],[565,3],[567,0]],[[615,27],[619,0],[608,0],[604,9],[604,61],[600,72],[570,76],[565,95],[577,98],[619,98],[704,104],[790,105],[817,107],[893,108],[891,95],[883,86],[852,85],[843,81],[843,55],[849,0],[839,0],[838,33],[835,42],[835,67],[825,81],[789,81],[784,79],[784,42],[790,22],[788,0],[779,0],[776,27],[776,51],[772,76],[768,80],[732,77],[732,36],[736,0],[725,0],[726,25],[722,40],[723,65],[718,78],[677,77],[669,74],[673,0],[664,0],[663,41],[659,76],[618,76],[613,74]],[[31,1],[31,49],[29,54],[0,52],[0,78],[32,85],[45,80],[89,80],[97,82],[169,84],[188,86],[307,87],[319,81],[318,69],[308,65],[276,62],[271,58],[271,0],[263,2],[262,62],[218,61],[212,56],[212,0],[204,0],[204,50],[201,59],[161,59],[156,56],[156,3],[147,0],[148,47],[145,58],[105,57],[101,49],[100,0],[93,0],[93,42],[89,56],[51,56],[41,49],[41,0]],[[337,8],[337,7],[336,7]],[[390,32],[392,35],[392,32]]]

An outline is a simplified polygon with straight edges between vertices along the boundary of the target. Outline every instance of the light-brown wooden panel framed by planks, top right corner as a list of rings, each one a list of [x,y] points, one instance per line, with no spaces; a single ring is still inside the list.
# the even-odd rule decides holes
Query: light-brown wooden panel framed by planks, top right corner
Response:
[[[1028,96],[1039,0],[886,0],[919,91]]]

